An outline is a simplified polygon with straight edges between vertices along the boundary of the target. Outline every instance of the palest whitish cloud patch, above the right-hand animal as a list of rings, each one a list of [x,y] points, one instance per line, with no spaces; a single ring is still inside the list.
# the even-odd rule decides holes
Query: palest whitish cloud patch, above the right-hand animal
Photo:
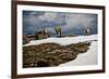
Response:
[[[68,25],[73,25],[73,26],[83,25],[84,27],[88,27],[92,21],[94,21],[94,17],[86,14],[68,14],[66,15]]]

